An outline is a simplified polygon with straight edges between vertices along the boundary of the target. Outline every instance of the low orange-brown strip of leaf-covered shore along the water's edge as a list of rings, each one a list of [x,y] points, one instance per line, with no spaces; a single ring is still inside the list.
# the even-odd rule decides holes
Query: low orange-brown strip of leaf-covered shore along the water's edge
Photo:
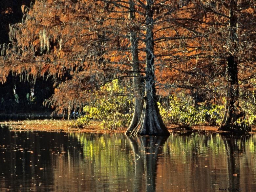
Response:
[[[91,123],[84,128],[71,128],[69,123],[72,120],[53,120],[53,119],[37,119],[37,120],[9,120],[0,121],[0,127],[9,127],[11,131],[46,131],[46,132],[66,132],[66,133],[97,133],[97,134],[113,134],[125,133],[127,128],[118,128],[117,130],[101,129],[100,122],[91,121]],[[229,133],[225,131],[218,131],[216,126],[194,126],[191,130],[180,128],[178,125],[166,126],[170,133]],[[256,126],[252,126],[252,132],[256,134]]]

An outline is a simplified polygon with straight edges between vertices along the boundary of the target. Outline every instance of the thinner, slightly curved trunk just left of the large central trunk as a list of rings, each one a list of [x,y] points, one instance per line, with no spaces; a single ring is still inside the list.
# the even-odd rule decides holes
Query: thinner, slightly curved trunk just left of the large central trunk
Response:
[[[134,14],[134,1],[130,0],[130,13],[129,17],[131,22],[135,22]],[[136,126],[139,124],[139,119],[142,114],[143,109],[143,98],[142,98],[142,86],[141,78],[139,73],[139,56],[138,56],[138,38],[135,31],[131,30],[130,32],[130,43],[131,43],[131,52],[132,52],[132,69],[134,71],[133,75],[138,77],[133,77],[133,87],[135,92],[135,101],[134,101],[134,112],[132,121],[126,131],[126,134],[131,134]]]

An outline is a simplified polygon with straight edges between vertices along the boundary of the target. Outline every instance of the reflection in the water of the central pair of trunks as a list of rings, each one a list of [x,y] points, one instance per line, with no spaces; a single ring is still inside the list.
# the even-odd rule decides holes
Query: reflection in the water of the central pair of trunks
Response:
[[[129,137],[134,152],[134,191],[142,191],[142,175],[145,175],[146,191],[156,191],[158,155],[168,137]]]

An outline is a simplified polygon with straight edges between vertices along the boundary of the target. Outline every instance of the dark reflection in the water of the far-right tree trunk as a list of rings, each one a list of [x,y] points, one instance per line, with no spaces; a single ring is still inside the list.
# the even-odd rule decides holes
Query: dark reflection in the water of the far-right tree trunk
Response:
[[[234,138],[232,135],[221,135],[227,154],[228,187],[240,187],[241,154],[245,154],[245,142],[250,136]],[[241,188],[241,187],[240,187]]]

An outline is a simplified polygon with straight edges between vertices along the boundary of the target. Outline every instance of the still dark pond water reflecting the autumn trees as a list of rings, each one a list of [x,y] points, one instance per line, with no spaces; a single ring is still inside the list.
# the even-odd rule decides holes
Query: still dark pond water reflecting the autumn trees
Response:
[[[0,191],[256,191],[256,137],[0,128]]]

